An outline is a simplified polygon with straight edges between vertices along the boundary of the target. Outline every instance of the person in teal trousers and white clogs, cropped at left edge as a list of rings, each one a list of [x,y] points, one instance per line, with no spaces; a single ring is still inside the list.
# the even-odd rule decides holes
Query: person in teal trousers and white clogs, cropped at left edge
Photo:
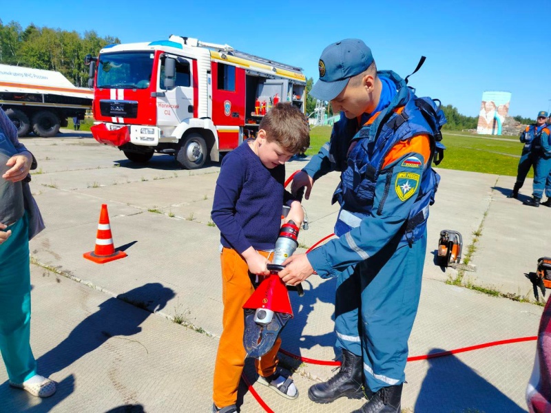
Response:
[[[0,109],[0,350],[12,387],[48,397],[56,385],[37,374],[30,348],[29,240],[44,229],[28,185],[29,170],[36,168]]]

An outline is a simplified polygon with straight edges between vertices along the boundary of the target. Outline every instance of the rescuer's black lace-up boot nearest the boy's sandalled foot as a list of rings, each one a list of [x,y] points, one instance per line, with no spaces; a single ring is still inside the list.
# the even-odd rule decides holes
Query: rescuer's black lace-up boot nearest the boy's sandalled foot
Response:
[[[342,365],[335,376],[318,383],[308,390],[308,396],[315,403],[331,403],[339,397],[362,399],[362,357],[342,349]]]

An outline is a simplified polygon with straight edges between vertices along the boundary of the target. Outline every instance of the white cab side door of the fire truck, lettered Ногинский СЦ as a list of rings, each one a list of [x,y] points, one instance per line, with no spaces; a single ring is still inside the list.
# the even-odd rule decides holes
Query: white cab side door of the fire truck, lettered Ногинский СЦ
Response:
[[[165,96],[157,98],[158,125],[178,125],[194,117],[194,65],[191,59],[178,57],[176,61],[176,84],[165,89],[165,64],[160,63],[159,92]]]

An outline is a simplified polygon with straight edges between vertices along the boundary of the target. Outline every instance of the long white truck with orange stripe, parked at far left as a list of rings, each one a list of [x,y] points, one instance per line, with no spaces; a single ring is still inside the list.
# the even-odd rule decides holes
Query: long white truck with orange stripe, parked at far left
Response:
[[[56,136],[67,126],[67,117],[84,120],[92,108],[94,93],[75,87],[52,70],[0,65],[0,105],[17,127],[17,136],[31,131],[37,136]]]

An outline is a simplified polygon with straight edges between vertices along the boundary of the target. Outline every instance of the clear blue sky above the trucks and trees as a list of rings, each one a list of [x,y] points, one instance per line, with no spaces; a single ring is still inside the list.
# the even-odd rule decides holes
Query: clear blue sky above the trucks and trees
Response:
[[[358,5],[362,5],[359,7]],[[346,38],[371,47],[377,67],[410,78],[419,96],[477,116],[482,92],[511,92],[511,116],[551,107],[551,0],[441,1],[11,1],[3,23],[96,30],[123,43],[169,34],[227,43],[298,65],[318,78],[326,45]]]

